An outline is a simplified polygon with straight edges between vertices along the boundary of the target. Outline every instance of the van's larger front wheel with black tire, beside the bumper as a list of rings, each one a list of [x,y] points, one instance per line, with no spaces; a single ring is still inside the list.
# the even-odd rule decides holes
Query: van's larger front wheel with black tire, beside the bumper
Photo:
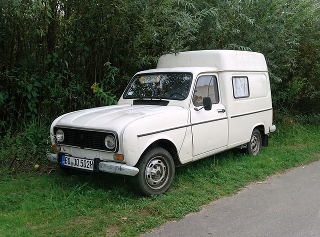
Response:
[[[174,162],[171,154],[161,147],[146,150],[135,165],[139,172],[133,176],[136,191],[144,196],[165,193],[172,184]]]

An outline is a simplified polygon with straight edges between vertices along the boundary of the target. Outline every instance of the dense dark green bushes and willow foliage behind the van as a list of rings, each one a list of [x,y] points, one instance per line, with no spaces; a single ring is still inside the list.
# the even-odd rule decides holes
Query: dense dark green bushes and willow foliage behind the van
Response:
[[[161,54],[197,49],[263,53],[275,112],[317,116],[319,6],[317,0],[1,0],[0,136],[115,103],[128,79],[154,67]]]

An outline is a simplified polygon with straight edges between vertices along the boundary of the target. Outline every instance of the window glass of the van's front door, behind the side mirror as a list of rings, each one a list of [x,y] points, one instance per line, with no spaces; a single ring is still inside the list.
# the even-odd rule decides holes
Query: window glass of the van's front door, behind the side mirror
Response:
[[[200,106],[203,104],[203,97],[210,97],[212,103],[219,102],[218,87],[216,77],[213,75],[202,75],[198,78],[193,93],[193,104]]]

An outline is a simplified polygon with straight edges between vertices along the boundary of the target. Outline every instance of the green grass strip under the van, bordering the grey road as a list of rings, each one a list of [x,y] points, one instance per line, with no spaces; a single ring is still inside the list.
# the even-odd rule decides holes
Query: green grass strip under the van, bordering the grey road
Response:
[[[108,173],[65,176],[47,161],[35,170],[0,175],[3,236],[137,236],[178,220],[250,182],[317,160],[320,127],[277,127],[257,157],[236,149],[177,167],[169,191],[141,197],[130,177]],[[43,157],[44,159],[44,157]]]

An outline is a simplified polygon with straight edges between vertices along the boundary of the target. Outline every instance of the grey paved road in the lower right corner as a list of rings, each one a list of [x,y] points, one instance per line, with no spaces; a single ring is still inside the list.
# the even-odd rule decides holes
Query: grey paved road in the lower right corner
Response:
[[[250,184],[142,236],[320,236],[320,162]]]

